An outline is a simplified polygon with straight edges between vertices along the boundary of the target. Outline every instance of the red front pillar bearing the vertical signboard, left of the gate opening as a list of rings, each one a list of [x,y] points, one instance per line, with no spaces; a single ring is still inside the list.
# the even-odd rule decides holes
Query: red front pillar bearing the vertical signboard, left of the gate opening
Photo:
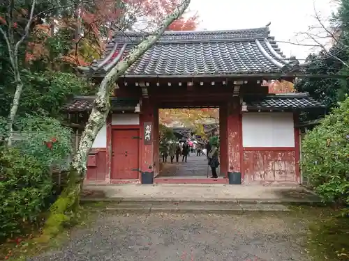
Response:
[[[140,171],[144,172],[154,172],[154,106],[149,102],[148,99],[142,100],[142,108],[140,115],[140,136],[141,139],[141,164]],[[144,123],[151,122],[151,143],[144,144]]]

